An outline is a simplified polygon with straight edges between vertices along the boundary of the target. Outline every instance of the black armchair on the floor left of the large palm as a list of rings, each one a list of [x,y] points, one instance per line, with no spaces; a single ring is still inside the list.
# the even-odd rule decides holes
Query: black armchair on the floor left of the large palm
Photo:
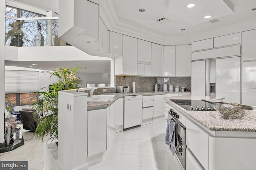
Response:
[[[22,118],[23,129],[35,131],[38,123],[42,118],[39,117],[38,114],[34,115],[35,109],[21,109],[20,116]]]

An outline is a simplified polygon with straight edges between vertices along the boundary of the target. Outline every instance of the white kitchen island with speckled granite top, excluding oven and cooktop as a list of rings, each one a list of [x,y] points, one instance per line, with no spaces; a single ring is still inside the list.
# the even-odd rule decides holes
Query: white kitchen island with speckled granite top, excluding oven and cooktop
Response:
[[[186,127],[186,170],[254,170],[256,167],[256,112],[240,119],[227,119],[218,111],[186,110],[170,101],[211,100],[209,96],[164,98],[165,110],[180,114]]]

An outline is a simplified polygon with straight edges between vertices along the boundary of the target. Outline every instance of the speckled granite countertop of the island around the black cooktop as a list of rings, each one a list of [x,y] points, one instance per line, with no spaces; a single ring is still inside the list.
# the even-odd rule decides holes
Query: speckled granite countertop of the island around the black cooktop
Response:
[[[188,117],[197,121],[207,129],[211,131],[246,131],[246,132],[256,132],[256,111],[251,111],[251,113],[245,117],[239,119],[227,119],[218,111],[190,111],[183,107],[170,101],[170,99],[184,99],[184,100],[211,100],[216,101],[223,98],[210,97],[210,96],[174,96],[164,98],[168,103],[176,106]]]

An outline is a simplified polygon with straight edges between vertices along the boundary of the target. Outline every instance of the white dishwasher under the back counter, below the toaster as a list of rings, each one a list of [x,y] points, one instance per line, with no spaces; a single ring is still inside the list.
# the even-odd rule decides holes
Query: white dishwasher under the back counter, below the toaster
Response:
[[[124,96],[124,129],[141,125],[142,95]]]

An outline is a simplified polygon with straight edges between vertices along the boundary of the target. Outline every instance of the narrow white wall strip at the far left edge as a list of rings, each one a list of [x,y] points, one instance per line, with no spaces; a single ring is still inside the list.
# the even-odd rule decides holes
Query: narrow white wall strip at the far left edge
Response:
[[[4,37],[5,1],[0,1],[0,143],[4,143]],[[2,110],[2,111],[1,111]]]

